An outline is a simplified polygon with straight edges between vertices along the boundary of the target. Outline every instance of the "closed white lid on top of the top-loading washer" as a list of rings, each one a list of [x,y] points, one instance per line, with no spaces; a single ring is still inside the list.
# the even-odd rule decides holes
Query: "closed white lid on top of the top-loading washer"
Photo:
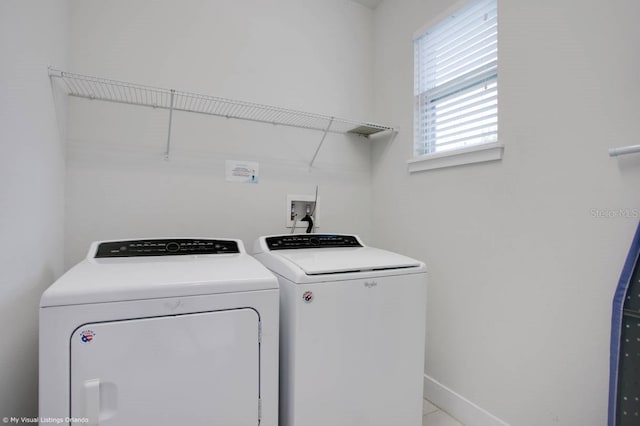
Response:
[[[373,247],[279,250],[272,254],[298,266],[306,275],[418,268],[423,265],[415,259]]]

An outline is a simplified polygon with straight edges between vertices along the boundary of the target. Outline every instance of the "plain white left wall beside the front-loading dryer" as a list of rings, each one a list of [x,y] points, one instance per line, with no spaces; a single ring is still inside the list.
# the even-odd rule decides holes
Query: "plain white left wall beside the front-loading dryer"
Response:
[[[37,415],[38,303],[61,273],[66,1],[0,2],[0,417]]]

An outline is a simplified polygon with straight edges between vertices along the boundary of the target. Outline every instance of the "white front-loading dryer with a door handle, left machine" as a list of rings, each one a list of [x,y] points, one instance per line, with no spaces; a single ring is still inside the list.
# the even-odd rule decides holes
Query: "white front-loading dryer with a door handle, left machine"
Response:
[[[239,240],[93,243],[42,295],[39,396],[56,424],[277,426],[278,282]]]

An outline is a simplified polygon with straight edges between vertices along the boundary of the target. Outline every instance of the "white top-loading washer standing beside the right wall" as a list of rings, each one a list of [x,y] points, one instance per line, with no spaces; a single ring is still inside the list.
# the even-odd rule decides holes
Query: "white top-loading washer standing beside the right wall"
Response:
[[[427,271],[354,235],[280,235],[280,425],[421,426]]]

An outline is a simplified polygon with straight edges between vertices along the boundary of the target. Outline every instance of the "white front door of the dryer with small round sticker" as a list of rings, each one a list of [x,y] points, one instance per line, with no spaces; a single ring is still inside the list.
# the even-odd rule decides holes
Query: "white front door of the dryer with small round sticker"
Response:
[[[71,336],[71,417],[256,425],[258,328],[252,309],[86,324]]]

